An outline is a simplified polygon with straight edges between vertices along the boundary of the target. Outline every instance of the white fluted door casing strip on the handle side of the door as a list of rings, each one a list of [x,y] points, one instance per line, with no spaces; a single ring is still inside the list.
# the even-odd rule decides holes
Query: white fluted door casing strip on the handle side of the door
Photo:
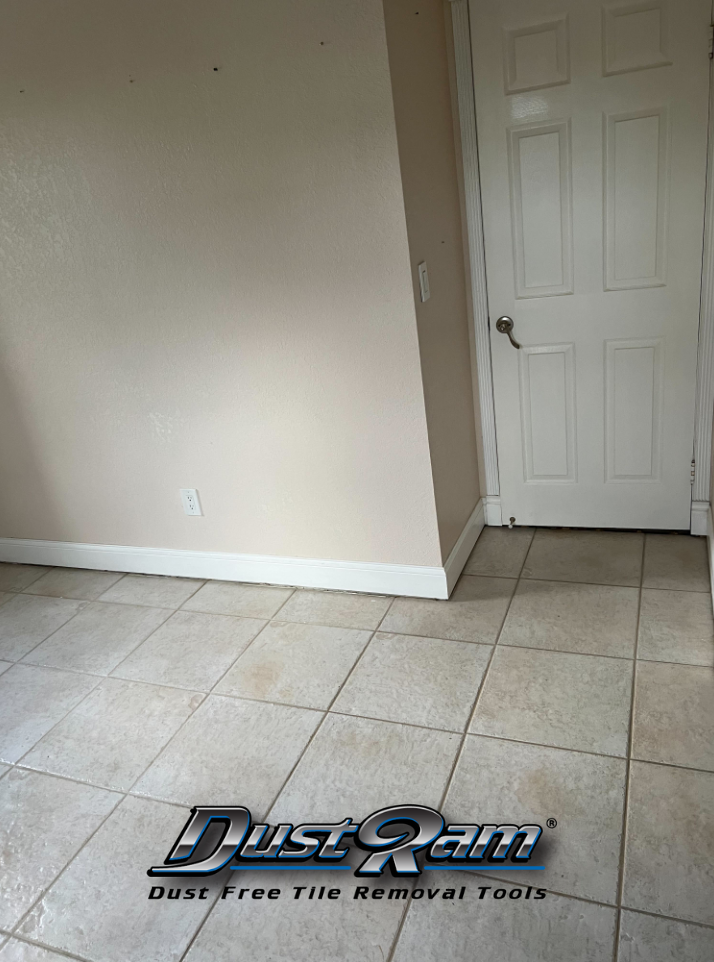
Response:
[[[474,101],[473,70],[471,66],[471,30],[468,0],[451,0],[451,22],[454,31],[454,66],[456,94],[459,104],[461,153],[464,172],[464,200],[466,230],[469,246],[471,298],[474,311],[474,337],[478,372],[481,433],[483,436],[483,467],[486,475],[486,495],[500,494],[498,480],[498,452],[496,449],[496,410],[493,401],[493,373],[491,370],[491,340],[488,330],[488,300],[486,297],[486,255],[483,241],[481,212],[481,184],[476,140],[476,104]],[[488,522],[492,524],[493,522]],[[498,522],[500,524],[500,521]]]

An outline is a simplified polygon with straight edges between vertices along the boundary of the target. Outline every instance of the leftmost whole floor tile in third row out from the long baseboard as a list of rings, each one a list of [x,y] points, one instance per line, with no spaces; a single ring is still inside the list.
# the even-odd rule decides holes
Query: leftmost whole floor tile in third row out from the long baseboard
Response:
[[[22,764],[126,792],[201,699],[177,688],[107,678]]]

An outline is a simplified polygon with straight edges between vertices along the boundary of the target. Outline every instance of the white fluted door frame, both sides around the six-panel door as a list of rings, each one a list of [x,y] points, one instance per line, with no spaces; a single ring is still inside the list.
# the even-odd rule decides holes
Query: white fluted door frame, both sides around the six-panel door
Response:
[[[459,127],[464,173],[468,257],[474,313],[476,366],[481,432],[483,435],[484,497],[486,524],[500,525],[501,498],[496,447],[496,412],[493,401],[491,339],[488,326],[486,260],[481,211],[481,182],[476,137],[476,103],[471,63],[469,0],[450,0],[454,32],[454,61],[459,106]],[[710,72],[707,192],[704,220],[704,259],[699,314],[696,411],[694,415],[694,481],[692,485],[691,533],[707,534],[711,484],[712,420],[714,414],[714,89]]]

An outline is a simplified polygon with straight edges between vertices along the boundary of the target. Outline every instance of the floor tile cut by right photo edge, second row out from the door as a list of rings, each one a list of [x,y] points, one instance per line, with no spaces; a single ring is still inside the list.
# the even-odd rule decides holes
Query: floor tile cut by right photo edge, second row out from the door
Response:
[[[714,622],[708,594],[642,591],[637,657],[685,665],[714,665]]]

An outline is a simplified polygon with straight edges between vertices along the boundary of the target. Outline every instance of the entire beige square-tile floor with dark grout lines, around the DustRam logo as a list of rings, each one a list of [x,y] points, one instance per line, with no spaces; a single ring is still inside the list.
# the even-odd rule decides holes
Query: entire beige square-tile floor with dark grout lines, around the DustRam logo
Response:
[[[191,805],[405,801],[556,818],[547,897],[147,899]],[[712,962],[705,542],[488,528],[448,602],[0,565],[0,812],[0,962]]]

